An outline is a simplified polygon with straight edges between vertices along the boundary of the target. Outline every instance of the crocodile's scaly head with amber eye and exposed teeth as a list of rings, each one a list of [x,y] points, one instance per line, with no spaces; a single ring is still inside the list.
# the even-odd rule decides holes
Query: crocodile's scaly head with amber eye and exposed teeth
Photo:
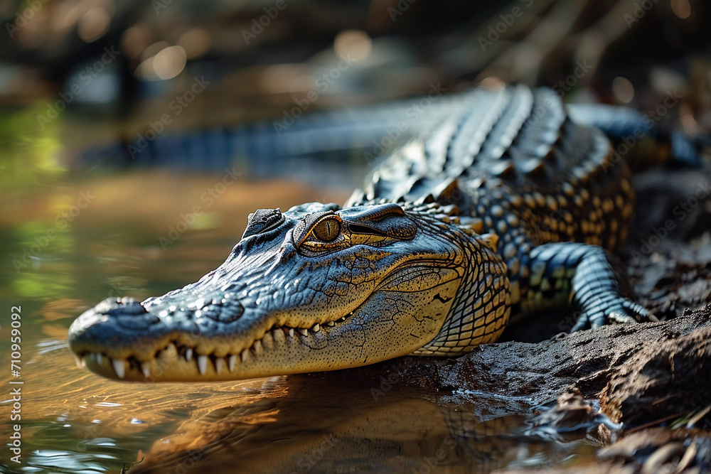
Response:
[[[90,370],[138,381],[454,354],[495,339],[508,318],[506,266],[491,247],[437,205],[258,210],[218,269],[141,303],[102,301],[72,324],[70,347]],[[485,306],[486,325],[472,321]]]

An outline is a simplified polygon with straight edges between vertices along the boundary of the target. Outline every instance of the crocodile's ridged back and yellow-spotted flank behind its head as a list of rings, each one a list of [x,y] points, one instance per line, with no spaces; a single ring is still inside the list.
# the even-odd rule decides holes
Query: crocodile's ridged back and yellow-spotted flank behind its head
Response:
[[[567,116],[550,89],[476,89],[466,107],[413,139],[373,171],[346,205],[454,204],[498,252],[518,256],[548,242],[618,249],[634,209],[629,170],[602,131]]]

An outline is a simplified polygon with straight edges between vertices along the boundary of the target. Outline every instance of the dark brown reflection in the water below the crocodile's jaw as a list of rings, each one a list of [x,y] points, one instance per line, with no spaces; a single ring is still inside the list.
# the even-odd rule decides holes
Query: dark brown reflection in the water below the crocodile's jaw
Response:
[[[412,390],[373,397],[343,379],[269,379],[280,395],[215,406],[156,441],[131,473],[488,473],[544,467],[583,447],[528,437],[525,416],[481,419]],[[486,401],[482,401],[486,404]]]

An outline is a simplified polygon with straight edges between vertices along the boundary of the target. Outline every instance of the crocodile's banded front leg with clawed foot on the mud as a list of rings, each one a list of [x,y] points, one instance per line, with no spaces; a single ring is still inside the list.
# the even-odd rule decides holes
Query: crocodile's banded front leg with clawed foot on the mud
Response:
[[[518,281],[523,312],[570,306],[580,313],[571,332],[608,323],[658,321],[631,301],[621,262],[597,245],[558,242],[535,247]]]

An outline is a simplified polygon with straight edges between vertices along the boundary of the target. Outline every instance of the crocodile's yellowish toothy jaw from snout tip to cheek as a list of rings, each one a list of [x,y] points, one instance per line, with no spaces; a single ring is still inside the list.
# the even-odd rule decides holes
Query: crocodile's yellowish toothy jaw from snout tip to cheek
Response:
[[[279,324],[275,318],[264,318],[268,330],[241,335],[205,338],[203,335],[168,331],[150,338],[132,334],[131,343],[92,346],[100,321],[107,315],[96,308],[84,313],[70,328],[70,345],[80,363],[109,379],[136,382],[208,382],[250,379],[303,372],[339,370],[368,365],[392,357],[407,355],[432,340],[449,313],[459,276],[445,272],[449,281],[417,293],[429,301],[432,318],[413,324],[417,314],[397,311],[397,305],[414,309],[400,291],[376,291],[363,305],[336,321],[314,323],[309,328]],[[102,303],[102,304],[106,304]],[[134,301],[109,301],[114,306],[127,305],[137,311]],[[101,304],[97,305],[101,309]],[[383,311],[383,308],[393,311]],[[142,306],[141,306],[142,308]],[[376,311],[379,310],[379,311]],[[116,315],[112,315],[114,318]],[[132,318],[152,318],[151,313],[134,314]],[[120,317],[120,316],[119,316]],[[159,324],[159,323],[157,323]],[[148,345],[148,347],[146,347]]]

